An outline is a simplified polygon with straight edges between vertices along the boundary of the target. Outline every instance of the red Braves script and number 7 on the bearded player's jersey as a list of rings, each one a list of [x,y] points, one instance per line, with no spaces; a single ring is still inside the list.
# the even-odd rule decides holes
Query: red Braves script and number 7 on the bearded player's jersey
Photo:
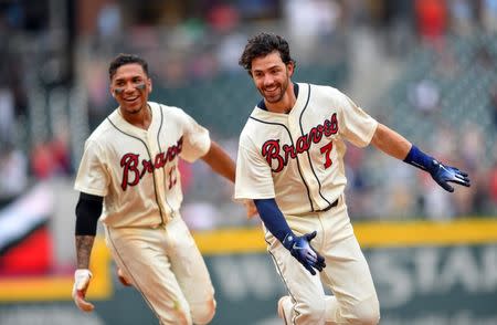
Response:
[[[330,119],[325,119],[322,124],[313,127],[308,134],[299,136],[297,141],[295,143],[295,146],[293,144],[292,145],[285,144],[283,145],[283,147],[281,147],[279,139],[276,140],[272,139],[265,141],[262,147],[262,155],[264,158],[266,158],[266,161],[267,164],[269,164],[269,166],[273,166],[273,161],[275,161],[276,167],[272,168],[272,170],[274,172],[279,172],[288,164],[288,160],[290,158],[295,159],[298,154],[308,151],[310,148],[310,144],[318,144],[321,140],[322,136],[329,137],[330,135],[334,135],[337,132],[338,132],[337,113],[334,113]],[[329,150],[326,150],[327,151],[326,153],[327,162],[325,164],[326,168],[331,165],[330,161],[328,162],[331,146],[329,145],[327,146],[329,147]],[[322,149],[321,153],[324,153]]]

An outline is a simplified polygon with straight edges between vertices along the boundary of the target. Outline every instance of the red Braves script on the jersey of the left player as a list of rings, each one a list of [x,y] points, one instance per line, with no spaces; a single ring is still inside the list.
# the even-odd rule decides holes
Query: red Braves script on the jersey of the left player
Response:
[[[176,145],[170,146],[166,153],[159,153],[152,160],[142,159],[140,164],[140,155],[126,154],[120,159],[123,167],[123,182],[120,187],[126,190],[128,186],[136,186],[146,172],[154,172],[155,169],[163,168],[168,161],[175,159],[180,153],[183,144],[181,137]]]

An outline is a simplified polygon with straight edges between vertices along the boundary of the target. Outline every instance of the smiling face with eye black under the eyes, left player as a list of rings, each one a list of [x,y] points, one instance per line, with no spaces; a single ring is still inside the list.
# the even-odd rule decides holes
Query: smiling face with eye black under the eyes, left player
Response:
[[[110,80],[110,93],[123,115],[136,115],[145,111],[151,90],[151,80],[138,63],[119,66]]]

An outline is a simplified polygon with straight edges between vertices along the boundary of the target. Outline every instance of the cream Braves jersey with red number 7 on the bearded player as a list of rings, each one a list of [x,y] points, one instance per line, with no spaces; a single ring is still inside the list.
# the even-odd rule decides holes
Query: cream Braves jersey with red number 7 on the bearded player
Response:
[[[345,140],[367,146],[378,122],[338,90],[295,84],[288,114],[256,106],[240,135],[235,199],[271,199],[285,214],[329,208],[347,184]]]

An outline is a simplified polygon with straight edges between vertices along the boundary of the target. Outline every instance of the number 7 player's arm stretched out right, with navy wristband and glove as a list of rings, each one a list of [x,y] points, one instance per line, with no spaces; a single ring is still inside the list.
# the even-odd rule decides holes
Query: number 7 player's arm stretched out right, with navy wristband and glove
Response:
[[[446,191],[454,191],[454,188],[450,182],[465,187],[470,186],[469,177],[466,172],[461,171],[456,167],[446,166],[424,154],[403,136],[382,124],[378,125],[373,138],[371,139],[371,144],[392,157],[430,172],[433,180]]]

